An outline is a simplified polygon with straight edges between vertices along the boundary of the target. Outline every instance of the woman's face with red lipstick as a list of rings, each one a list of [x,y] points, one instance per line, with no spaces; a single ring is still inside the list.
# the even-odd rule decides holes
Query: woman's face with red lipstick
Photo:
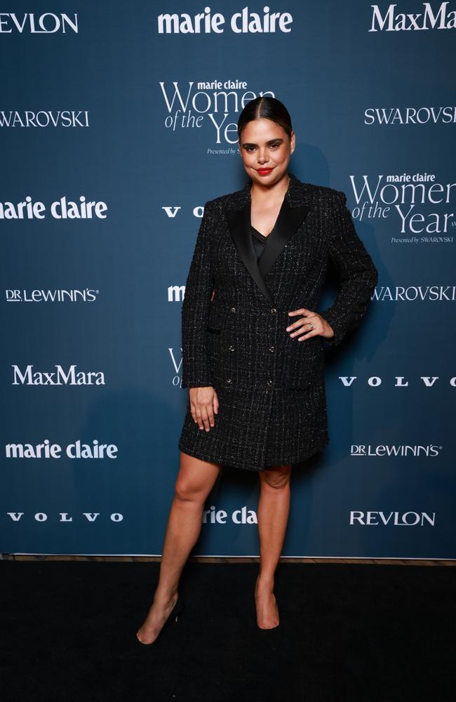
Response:
[[[239,150],[253,182],[274,185],[286,174],[295,150],[295,133],[292,131],[290,140],[286,131],[271,119],[253,119],[241,132]]]

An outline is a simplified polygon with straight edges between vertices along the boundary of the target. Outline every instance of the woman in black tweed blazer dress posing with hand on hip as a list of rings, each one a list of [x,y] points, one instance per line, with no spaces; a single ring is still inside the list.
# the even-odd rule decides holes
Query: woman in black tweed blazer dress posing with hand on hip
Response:
[[[338,345],[366,313],[377,269],[345,195],[288,173],[295,133],[276,98],[238,122],[251,182],[206,202],[182,305],[182,388],[189,402],[159,584],[137,633],[151,644],[175,618],[177,587],[222,465],[257,471],[257,625],[279,625],[274,573],[288,522],[290,473],[328,443],[323,344]],[[333,305],[316,312],[329,263]]]

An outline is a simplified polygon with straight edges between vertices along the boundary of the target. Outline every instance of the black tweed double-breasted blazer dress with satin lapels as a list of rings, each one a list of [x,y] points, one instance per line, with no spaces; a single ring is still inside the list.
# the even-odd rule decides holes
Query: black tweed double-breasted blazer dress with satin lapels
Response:
[[[179,448],[244,470],[300,463],[328,444],[324,349],[366,314],[377,268],[356,234],[343,192],[290,183],[259,262],[250,233],[251,181],[206,202],[182,303],[182,388],[212,385],[215,426],[200,429],[187,404]],[[333,305],[318,303],[332,263]],[[291,338],[307,307],[330,339]]]

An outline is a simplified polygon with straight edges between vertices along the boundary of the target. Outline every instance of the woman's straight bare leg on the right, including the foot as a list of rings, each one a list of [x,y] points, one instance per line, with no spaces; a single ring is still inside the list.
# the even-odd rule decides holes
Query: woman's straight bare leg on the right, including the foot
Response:
[[[279,625],[279,609],[274,595],[274,573],[281,555],[290,512],[291,465],[265,468],[259,475],[260,574],[255,585],[255,604],[258,626],[260,629],[271,629]]]

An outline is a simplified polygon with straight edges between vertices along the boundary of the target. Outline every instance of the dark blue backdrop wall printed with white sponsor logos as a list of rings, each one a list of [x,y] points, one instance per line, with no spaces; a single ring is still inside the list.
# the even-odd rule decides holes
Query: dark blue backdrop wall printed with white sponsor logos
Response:
[[[246,184],[239,112],[274,95],[290,171],[347,194],[379,270],[326,350],[283,555],[456,557],[455,27],[438,0],[2,8],[1,552],[161,554],[202,207]],[[258,490],[223,469],[195,555],[258,554]]]

